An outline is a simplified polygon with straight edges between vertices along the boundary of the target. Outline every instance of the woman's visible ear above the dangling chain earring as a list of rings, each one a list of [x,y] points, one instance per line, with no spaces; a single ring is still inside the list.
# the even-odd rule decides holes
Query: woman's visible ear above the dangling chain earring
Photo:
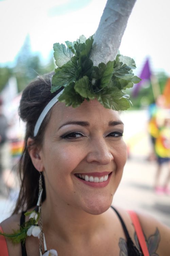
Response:
[[[44,165],[40,156],[40,149],[36,146],[34,140],[30,137],[27,140],[27,148],[35,169],[37,169],[39,172],[43,172]]]

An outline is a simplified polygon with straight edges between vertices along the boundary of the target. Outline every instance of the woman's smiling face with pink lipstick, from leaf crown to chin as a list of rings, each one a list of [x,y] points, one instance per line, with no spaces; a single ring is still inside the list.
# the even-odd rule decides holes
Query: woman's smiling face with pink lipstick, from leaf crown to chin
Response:
[[[47,199],[91,214],[106,211],[122,177],[126,145],[116,111],[97,100],[57,103],[40,150]]]

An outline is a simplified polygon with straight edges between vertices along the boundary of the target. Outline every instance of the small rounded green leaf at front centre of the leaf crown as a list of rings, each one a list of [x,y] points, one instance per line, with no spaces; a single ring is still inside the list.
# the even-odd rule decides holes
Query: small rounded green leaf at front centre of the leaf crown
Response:
[[[74,89],[83,98],[95,99],[95,94],[90,91],[89,79],[87,76],[79,79],[75,83]]]

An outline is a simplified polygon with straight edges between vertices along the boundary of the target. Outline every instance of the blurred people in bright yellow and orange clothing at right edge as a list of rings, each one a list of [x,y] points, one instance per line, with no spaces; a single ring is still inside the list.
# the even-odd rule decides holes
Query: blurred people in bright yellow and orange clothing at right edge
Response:
[[[159,95],[154,104],[149,107],[149,125],[152,152],[149,160],[156,160],[154,189],[157,194],[170,195],[170,103],[167,97]],[[166,179],[160,182],[163,166],[167,167]]]

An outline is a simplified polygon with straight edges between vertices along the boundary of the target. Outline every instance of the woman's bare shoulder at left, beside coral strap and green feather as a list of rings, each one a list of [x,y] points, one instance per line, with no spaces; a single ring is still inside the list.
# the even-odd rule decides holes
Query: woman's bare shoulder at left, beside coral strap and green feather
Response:
[[[0,226],[2,227],[2,230],[4,233],[12,234],[13,230],[19,229],[19,224],[20,224],[20,214],[16,214],[4,220],[3,222],[1,222]],[[9,256],[21,255],[20,243],[14,245],[9,239],[6,238],[6,244],[7,244]]]

